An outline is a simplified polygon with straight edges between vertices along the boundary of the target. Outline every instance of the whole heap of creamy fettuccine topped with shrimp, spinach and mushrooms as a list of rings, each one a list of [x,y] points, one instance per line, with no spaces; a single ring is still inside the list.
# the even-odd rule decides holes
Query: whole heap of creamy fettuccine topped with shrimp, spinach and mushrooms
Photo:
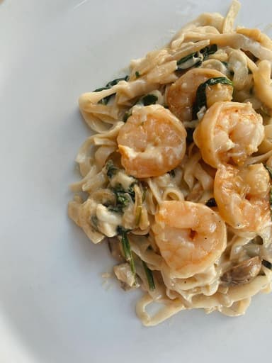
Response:
[[[130,74],[79,98],[94,135],[69,217],[107,241],[144,325],[241,315],[272,281],[272,41],[203,13]],[[149,313],[149,304],[162,308]]]

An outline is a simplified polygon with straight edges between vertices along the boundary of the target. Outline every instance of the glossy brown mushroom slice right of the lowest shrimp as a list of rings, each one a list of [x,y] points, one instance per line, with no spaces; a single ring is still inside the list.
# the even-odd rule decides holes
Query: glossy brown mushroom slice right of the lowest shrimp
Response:
[[[237,264],[222,275],[221,281],[227,286],[248,284],[261,270],[260,257],[252,257]]]

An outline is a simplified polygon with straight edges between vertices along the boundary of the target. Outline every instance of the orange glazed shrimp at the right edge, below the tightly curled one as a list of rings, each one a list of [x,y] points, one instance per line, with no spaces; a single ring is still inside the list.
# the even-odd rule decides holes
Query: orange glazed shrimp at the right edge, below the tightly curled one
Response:
[[[271,223],[269,184],[263,164],[242,169],[221,165],[215,174],[214,195],[225,222],[244,232],[257,232]]]

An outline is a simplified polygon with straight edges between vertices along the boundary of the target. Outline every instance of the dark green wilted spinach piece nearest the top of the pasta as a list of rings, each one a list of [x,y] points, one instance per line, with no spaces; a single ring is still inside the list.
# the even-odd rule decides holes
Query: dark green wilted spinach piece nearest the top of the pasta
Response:
[[[191,67],[199,67],[204,60],[207,60],[210,55],[217,51],[217,45],[208,45],[198,52],[193,52],[191,54],[182,57],[176,62],[178,66],[177,70],[188,69]]]

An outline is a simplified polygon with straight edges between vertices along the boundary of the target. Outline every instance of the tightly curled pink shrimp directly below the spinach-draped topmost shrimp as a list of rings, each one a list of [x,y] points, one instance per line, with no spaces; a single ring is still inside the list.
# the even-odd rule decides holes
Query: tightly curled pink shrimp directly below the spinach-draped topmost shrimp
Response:
[[[216,102],[198,124],[193,140],[212,167],[242,165],[264,138],[263,119],[251,104]]]

